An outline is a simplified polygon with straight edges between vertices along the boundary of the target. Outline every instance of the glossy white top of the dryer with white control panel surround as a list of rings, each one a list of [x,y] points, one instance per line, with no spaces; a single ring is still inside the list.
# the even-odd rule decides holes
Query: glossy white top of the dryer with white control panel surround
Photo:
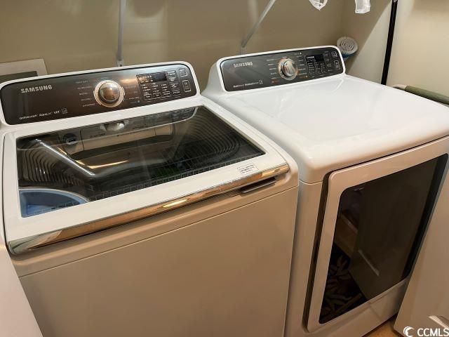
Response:
[[[305,53],[307,60],[307,53],[322,53],[332,48],[224,58],[210,70],[203,95],[248,121],[287,150],[297,161],[300,179],[307,183],[321,181],[336,169],[448,136],[448,107],[344,72],[311,76],[307,74],[310,67],[305,67],[302,73],[300,67],[304,65],[298,61],[295,83],[281,79],[281,83],[250,90],[226,88],[227,77],[235,82],[244,82],[248,76],[253,77],[250,83],[257,83],[259,77],[264,83],[278,81],[276,71],[264,70],[269,62],[280,64],[285,58],[293,59],[293,52],[298,51]],[[273,61],[274,53],[278,56]],[[257,58],[269,62],[257,64]],[[230,74],[226,62],[249,66],[245,73]],[[341,60],[338,62],[342,64]],[[309,66],[309,62],[305,63]],[[250,70],[251,67],[255,69]],[[279,65],[281,72],[280,68]],[[304,79],[300,79],[304,74]]]

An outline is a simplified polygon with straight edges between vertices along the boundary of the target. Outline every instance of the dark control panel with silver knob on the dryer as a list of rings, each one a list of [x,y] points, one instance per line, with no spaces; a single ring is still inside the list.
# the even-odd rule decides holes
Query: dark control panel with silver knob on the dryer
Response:
[[[335,47],[229,58],[221,62],[220,68],[227,91],[320,79],[344,71],[342,58]]]

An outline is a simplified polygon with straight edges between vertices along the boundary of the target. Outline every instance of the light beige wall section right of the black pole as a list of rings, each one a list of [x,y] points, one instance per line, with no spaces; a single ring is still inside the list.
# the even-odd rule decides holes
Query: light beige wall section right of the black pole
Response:
[[[449,95],[449,1],[399,1],[387,84]]]

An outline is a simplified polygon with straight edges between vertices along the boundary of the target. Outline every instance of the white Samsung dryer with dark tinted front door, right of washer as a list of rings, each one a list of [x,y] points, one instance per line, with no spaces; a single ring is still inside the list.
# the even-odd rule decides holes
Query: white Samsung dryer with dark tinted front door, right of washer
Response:
[[[288,337],[363,336],[395,315],[449,216],[449,109],[345,71],[334,46],[239,55],[203,91],[299,166]]]

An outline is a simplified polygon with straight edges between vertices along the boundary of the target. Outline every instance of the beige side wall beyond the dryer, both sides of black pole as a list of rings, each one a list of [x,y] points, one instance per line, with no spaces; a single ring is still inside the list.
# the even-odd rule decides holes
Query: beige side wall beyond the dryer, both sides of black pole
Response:
[[[360,50],[347,63],[348,73],[379,81],[387,44],[391,0],[371,1],[372,11],[354,15],[343,9],[343,34]],[[449,1],[399,0],[387,84],[419,86],[449,95]]]

